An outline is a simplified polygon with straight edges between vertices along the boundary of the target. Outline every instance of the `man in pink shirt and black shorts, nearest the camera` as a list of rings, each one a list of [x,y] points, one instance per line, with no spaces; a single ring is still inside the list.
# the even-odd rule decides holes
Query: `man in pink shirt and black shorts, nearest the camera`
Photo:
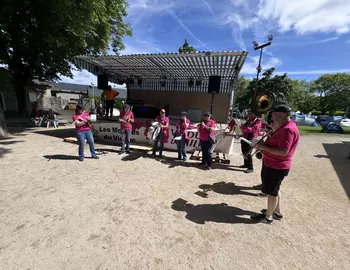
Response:
[[[267,194],[267,209],[261,210],[262,214],[251,216],[258,222],[269,224],[273,219],[283,218],[280,185],[292,167],[292,158],[300,137],[297,125],[290,119],[290,113],[291,109],[286,105],[275,107],[271,116],[273,133],[257,146],[263,153],[261,191]]]

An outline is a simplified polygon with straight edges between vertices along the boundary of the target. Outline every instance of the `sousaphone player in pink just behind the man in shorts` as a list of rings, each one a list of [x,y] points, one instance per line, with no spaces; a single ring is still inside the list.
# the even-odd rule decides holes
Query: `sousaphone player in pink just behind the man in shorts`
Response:
[[[247,122],[241,125],[241,130],[243,133],[243,138],[252,141],[254,138],[257,138],[260,134],[261,121],[252,111],[248,112]],[[242,153],[246,153],[249,149],[249,145],[244,141],[241,141],[241,150]],[[253,168],[253,157],[252,155],[247,155],[244,158],[244,164],[240,168],[247,168],[245,173],[252,173]]]

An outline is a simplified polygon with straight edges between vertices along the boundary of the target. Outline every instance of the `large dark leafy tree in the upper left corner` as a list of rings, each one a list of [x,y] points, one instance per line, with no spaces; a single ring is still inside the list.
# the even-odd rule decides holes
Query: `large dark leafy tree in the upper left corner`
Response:
[[[29,112],[33,79],[72,77],[75,56],[123,49],[122,38],[132,34],[126,8],[125,0],[3,0],[0,63],[13,74],[19,112]]]

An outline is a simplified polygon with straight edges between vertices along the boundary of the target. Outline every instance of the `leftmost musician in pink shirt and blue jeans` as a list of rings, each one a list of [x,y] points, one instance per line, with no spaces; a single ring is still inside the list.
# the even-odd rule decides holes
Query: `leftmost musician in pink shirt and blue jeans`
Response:
[[[73,115],[73,123],[75,124],[79,144],[79,161],[84,161],[85,139],[90,146],[91,157],[98,159],[95,153],[94,137],[91,132],[91,118],[87,112],[84,112],[84,108],[80,104],[77,104],[75,114]]]

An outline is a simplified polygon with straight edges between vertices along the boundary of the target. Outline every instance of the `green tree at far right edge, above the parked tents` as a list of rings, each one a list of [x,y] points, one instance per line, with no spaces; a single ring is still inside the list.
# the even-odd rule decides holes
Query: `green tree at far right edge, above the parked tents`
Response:
[[[350,101],[350,74],[322,75],[314,81],[311,88],[320,97],[322,114],[344,111]]]

